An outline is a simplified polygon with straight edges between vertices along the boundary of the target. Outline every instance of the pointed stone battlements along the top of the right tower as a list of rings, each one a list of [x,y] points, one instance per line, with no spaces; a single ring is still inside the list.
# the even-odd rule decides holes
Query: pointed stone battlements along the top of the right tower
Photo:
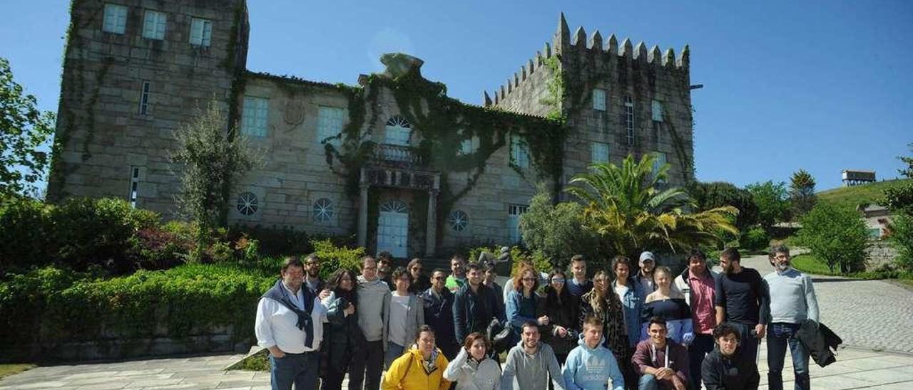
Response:
[[[503,104],[511,94],[528,82],[535,72],[545,67],[546,61],[551,56],[559,56],[562,64],[570,60],[571,56],[593,56],[597,65],[622,61],[628,64],[638,62],[658,69],[684,71],[687,73],[690,55],[687,45],[678,56],[676,56],[675,50],[671,47],[666,48],[665,52],[656,45],[650,49],[646,47],[644,42],[639,42],[634,46],[629,38],[624,38],[624,42],[619,46],[618,38],[614,34],[603,41],[603,36],[598,30],[594,30],[593,34],[587,37],[586,31],[582,26],[577,27],[577,30],[571,36],[571,30],[568,27],[567,20],[564,18],[564,13],[561,13],[558,29],[551,38],[551,44],[546,42],[542,50],[536,52],[536,56],[527,60],[527,63],[520,67],[512,77],[509,77],[505,84],[496,88],[493,92],[493,98],[488,94],[488,91],[483,91],[483,105],[488,107]]]

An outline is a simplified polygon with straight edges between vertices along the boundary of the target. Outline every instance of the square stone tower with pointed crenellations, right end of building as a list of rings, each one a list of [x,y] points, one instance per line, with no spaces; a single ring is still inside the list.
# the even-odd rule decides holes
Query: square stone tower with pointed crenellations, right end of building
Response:
[[[564,181],[598,161],[620,162],[656,153],[671,165],[669,181],[693,180],[689,48],[619,45],[599,31],[573,34],[562,13],[551,43],[508,78],[484,104],[537,116],[565,118]]]

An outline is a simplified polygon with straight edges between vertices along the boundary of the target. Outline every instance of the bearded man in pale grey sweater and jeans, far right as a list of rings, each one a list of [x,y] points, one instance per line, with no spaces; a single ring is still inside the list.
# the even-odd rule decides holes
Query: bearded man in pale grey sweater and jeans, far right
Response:
[[[764,276],[771,292],[771,324],[767,335],[768,388],[783,388],[783,359],[788,345],[795,389],[808,390],[811,388],[809,352],[796,334],[806,320],[818,323],[818,298],[814,294],[812,278],[792,268],[789,248],[777,245],[771,248],[769,256],[774,272]]]

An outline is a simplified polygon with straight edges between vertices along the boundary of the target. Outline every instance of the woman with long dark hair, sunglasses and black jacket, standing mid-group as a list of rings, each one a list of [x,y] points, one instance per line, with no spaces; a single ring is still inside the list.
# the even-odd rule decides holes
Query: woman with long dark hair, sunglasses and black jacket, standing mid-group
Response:
[[[549,284],[545,286],[545,315],[549,317],[549,326],[545,329],[545,341],[555,352],[558,364],[564,364],[568,354],[577,345],[580,334],[577,327],[577,311],[580,303],[567,289],[567,280],[561,268],[549,272]],[[602,330],[602,328],[600,328]]]

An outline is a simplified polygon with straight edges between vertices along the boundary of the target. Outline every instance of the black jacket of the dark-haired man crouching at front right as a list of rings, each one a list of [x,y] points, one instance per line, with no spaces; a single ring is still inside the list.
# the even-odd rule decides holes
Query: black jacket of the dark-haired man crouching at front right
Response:
[[[724,357],[719,346],[700,364],[700,378],[707,390],[757,390],[761,382],[753,358],[741,357],[738,350],[731,357]]]

